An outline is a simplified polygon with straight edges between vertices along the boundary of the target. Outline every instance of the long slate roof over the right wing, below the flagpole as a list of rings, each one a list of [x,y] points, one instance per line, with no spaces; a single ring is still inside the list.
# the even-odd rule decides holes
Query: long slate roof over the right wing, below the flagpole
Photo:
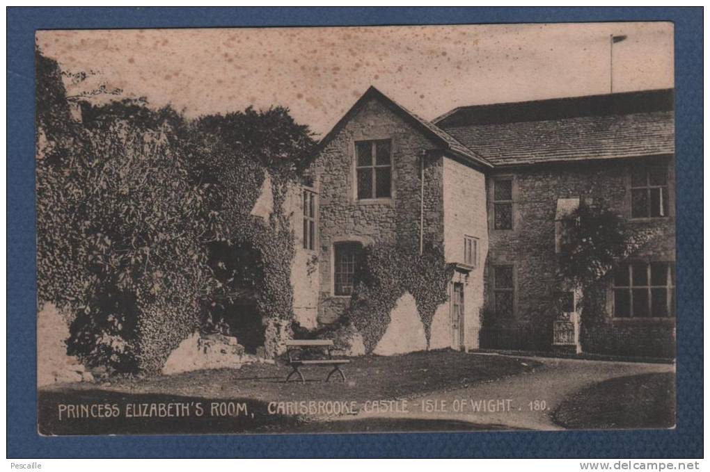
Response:
[[[439,128],[498,166],[673,154],[672,90],[455,108]]]

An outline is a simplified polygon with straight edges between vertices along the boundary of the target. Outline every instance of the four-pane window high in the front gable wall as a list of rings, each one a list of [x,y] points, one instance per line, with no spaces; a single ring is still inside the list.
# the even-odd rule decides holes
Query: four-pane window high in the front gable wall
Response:
[[[357,198],[390,198],[392,159],[390,140],[355,143]]]

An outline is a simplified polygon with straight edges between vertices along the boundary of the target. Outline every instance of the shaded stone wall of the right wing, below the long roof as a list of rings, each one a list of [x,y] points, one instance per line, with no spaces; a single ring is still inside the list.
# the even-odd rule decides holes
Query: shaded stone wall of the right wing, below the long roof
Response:
[[[626,218],[639,232],[655,232],[633,258],[674,261],[674,172],[669,165],[670,216],[630,219],[630,160],[571,162],[521,168],[491,175],[513,176],[513,230],[493,229],[491,181],[488,182],[490,251],[486,267],[486,298],[492,305],[490,271],[493,265],[513,265],[515,309],[512,319],[493,316],[486,322],[488,343],[525,349],[549,348],[555,310],[555,210],[558,198],[592,198]],[[582,344],[587,352],[618,352],[662,356],[674,350],[674,320],[613,320],[611,291],[603,283],[585,294]],[[622,324],[623,323],[623,324]],[[665,354],[664,354],[665,353]]]

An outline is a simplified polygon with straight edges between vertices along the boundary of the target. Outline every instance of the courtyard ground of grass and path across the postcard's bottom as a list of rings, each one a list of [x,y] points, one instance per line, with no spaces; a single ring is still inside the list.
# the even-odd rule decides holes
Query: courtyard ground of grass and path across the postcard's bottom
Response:
[[[290,369],[284,365],[251,364],[242,369],[194,371],[173,376],[114,379],[111,385],[89,383],[56,385],[40,390],[40,431],[45,434],[102,434],[105,432],[157,434],[160,432],[376,432],[476,429],[564,429],[595,427],[592,405],[606,402],[626,410],[667,410],[674,404],[670,392],[640,400],[624,396],[628,383],[603,382],[629,376],[656,374],[674,378],[672,364],[643,364],[575,359],[521,358],[495,354],[439,351],[403,356],[364,356],[344,367],[347,381],[325,383],[328,369],[305,369],[307,382],[284,383]],[[591,393],[580,393],[601,383]],[[618,393],[615,395],[615,391]],[[646,388],[644,391],[655,391]],[[606,400],[586,401],[585,398]],[[586,395],[586,396],[585,396]],[[576,403],[565,403],[577,399]],[[268,412],[268,402],[302,400],[355,402],[354,414],[283,415]],[[393,400],[386,409],[364,408],[373,400]],[[570,400],[572,401],[572,400]],[[102,421],[58,418],[61,403],[244,403],[248,412],[189,418],[120,415]],[[394,408],[392,405],[395,405]],[[400,408],[402,406],[406,408]],[[562,406],[561,406],[562,405]],[[586,405],[590,405],[589,408]],[[655,406],[653,406],[655,405]],[[616,407],[615,407],[616,408]],[[587,411],[589,410],[589,412]],[[618,410],[618,408],[617,408]],[[559,413],[563,412],[563,413]],[[559,413],[554,414],[553,413]],[[667,412],[652,416],[667,415]],[[586,415],[586,416],[585,416]],[[643,415],[641,415],[643,416]],[[562,420],[564,419],[564,420]],[[557,422],[556,422],[557,421]],[[633,427],[631,425],[630,427]]]

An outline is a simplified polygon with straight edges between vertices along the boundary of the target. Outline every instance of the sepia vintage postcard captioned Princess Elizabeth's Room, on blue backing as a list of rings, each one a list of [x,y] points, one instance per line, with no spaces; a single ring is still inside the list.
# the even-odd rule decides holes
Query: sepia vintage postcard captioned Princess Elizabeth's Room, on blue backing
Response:
[[[35,43],[40,434],[674,427],[672,23]]]

